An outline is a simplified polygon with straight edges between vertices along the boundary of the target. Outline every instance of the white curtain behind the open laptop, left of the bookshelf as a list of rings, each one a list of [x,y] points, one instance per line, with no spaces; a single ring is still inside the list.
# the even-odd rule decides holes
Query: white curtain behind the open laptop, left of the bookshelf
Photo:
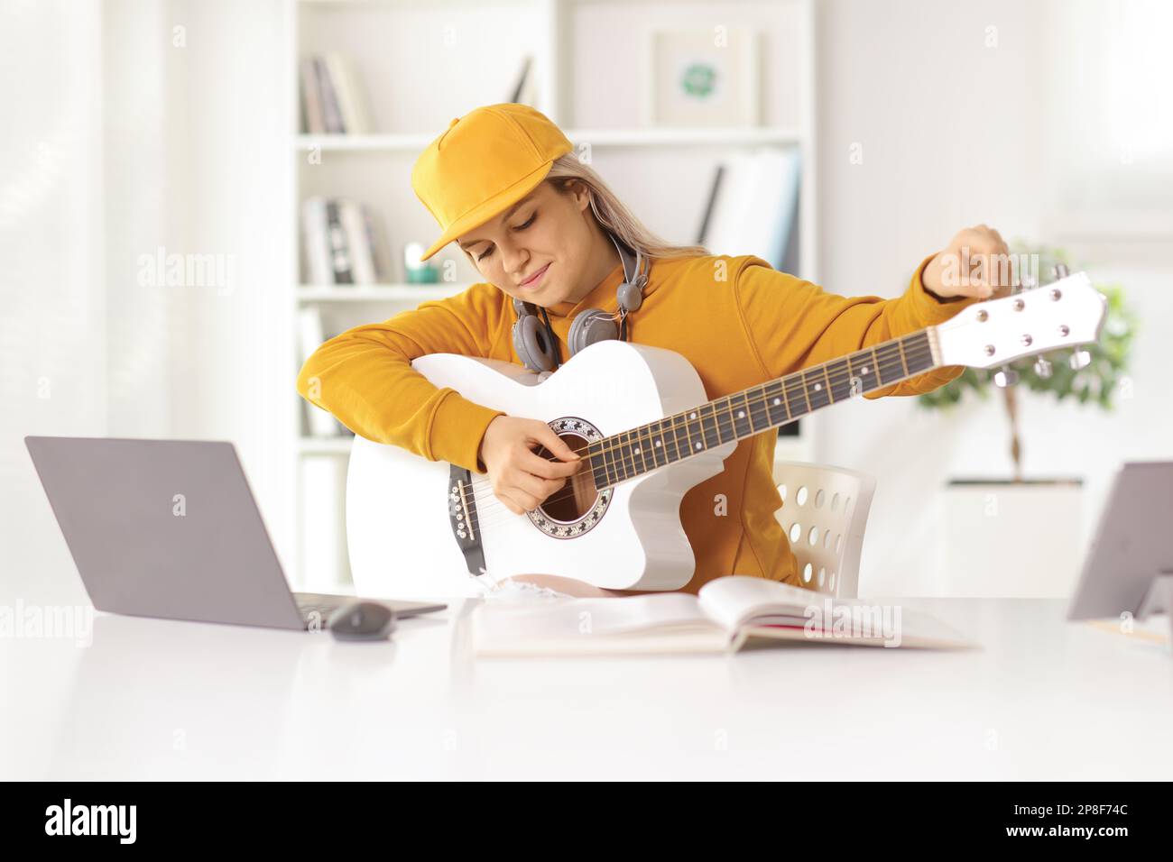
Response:
[[[28,434],[232,440],[291,539],[286,8],[0,0],[0,603],[82,597]]]

